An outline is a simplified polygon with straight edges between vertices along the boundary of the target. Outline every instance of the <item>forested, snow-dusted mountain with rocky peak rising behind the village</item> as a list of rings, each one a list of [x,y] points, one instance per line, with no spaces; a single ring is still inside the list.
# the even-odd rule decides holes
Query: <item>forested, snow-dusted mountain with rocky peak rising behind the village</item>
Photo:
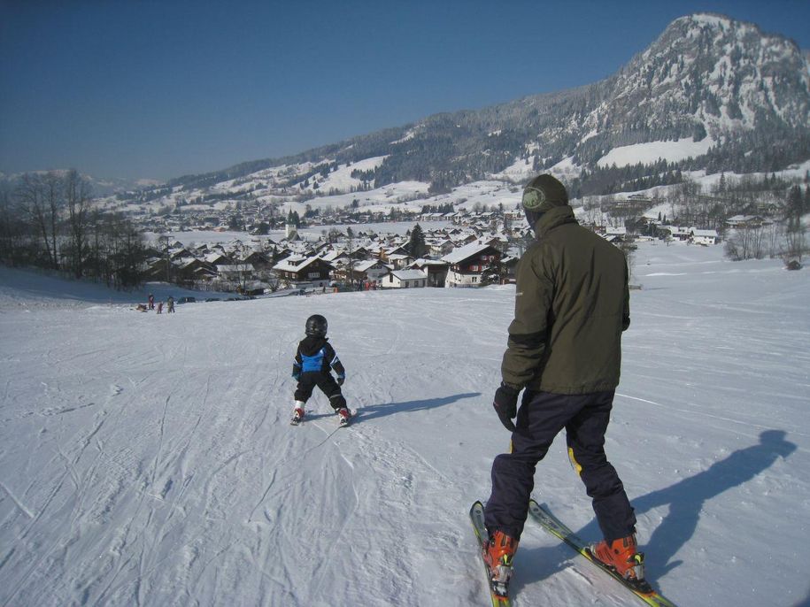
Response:
[[[648,165],[636,169],[640,176],[676,169],[778,171],[810,159],[808,65],[806,53],[783,36],[696,14],[676,19],[619,73],[589,86],[437,114],[168,185],[208,190],[274,167],[291,171],[284,185],[301,185],[324,167],[328,173],[371,158],[380,161],[359,172],[356,187],[420,182],[434,193],[490,178],[521,181],[540,168],[578,178],[575,194],[606,193],[606,183],[620,181],[603,174],[613,164]],[[639,145],[652,146],[657,156],[651,160]],[[663,166],[655,164],[659,158]]]

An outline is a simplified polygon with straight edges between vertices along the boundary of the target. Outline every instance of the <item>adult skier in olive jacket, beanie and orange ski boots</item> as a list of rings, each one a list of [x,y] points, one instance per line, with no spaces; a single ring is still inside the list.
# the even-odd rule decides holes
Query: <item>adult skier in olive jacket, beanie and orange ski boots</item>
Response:
[[[512,432],[512,449],[492,464],[484,559],[493,580],[508,580],[536,465],[565,428],[568,456],[605,538],[593,553],[627,580],[644,583],[636,516],[604,449],[621,333],[630,323],[627,263],[620,250],[577,223],[566,188],[552,175],[528,183],[522,206],[536,242],[518,265],[514,319],[493,402]]]

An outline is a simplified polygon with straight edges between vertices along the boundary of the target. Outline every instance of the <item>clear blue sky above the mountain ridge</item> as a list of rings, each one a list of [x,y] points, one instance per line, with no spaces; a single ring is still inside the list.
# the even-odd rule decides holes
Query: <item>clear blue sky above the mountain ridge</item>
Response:
[[[673,19],[808,0],[0,0],[0,172],[169,179],[598,81]]]

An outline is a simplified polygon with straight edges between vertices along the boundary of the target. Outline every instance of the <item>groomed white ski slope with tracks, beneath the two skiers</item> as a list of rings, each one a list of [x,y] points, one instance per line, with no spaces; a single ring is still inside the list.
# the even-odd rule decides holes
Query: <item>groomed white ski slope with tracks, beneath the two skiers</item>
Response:
[[[647,243],[635,276],[607,450],[648,577],[682,606],[810,604],[810,273]],[[467,510],[508,448],[513,288],[134,301],[0,268],[0,604],[488,604]],[[314,312],[346,429],[321,395],[287,423]],[[562,438],[534,495],[598,539]],[[635,600],[531,523],[513,589]]]

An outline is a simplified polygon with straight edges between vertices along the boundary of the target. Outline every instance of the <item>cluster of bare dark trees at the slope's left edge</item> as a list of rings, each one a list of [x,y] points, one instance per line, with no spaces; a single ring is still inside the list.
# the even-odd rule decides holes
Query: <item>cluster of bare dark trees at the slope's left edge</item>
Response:
[[[89,181],[75,170],[25,173],[0,191],[0,262],[6,265],[135,288],[146,256],[135,225],[93,204]]]

